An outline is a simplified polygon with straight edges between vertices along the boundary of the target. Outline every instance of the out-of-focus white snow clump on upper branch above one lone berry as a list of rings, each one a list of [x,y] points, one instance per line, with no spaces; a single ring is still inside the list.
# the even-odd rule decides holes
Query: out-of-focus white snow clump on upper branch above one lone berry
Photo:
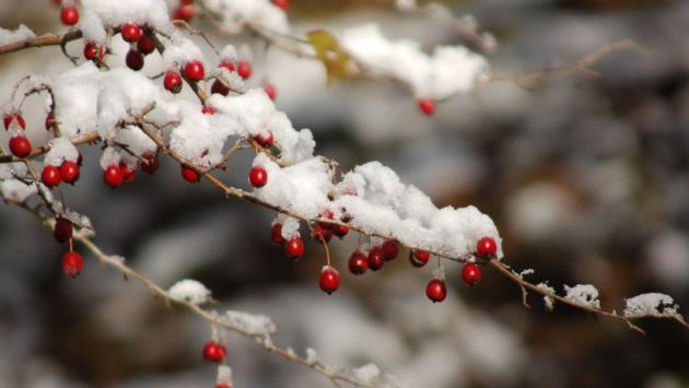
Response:
[[[392,75],[407,83],[419,97],[447,98],[470,91],[486,74],[486,59],[463,46],[437,46],[432,55],[418,42],[389,40],[377,24],[346,30],[341,46],[375,73]]]

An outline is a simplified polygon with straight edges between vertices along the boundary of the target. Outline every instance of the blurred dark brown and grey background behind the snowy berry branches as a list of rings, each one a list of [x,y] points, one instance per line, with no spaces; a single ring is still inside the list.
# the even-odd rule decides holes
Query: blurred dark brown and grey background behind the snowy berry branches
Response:
[[[398,85],[327,86],[320,64],[280,51],[254,51],[253,82],[275,83],[278,107],[344,168],[379,160],[439,207],[476,204],[498,224],[507,262],[536,269],[533,281],[549,280],[558,292],[594,283],[603,306],[618,311],[623,297],[657,291],[687,314],[689,1],[446,3],[497,36],[489,60],[505,77],[567,64],[624,38],[649,52],[606,57],[595,66],[602,78],[556,75],[533,90],[491,82],[431,118]],[[292,0],[289,12],[296,33],[375,21],[388,37],[429,49],[462,42],[444,25],[371,1]],[[51,1],[0,0],[0,25],[20,23],[38,34],[61,28]],[[80,47],[68,49],[79,55]],[[125,47],[118,40],[114,49]],[[0,57],[0,101],[30,72],[70,67],[59,48]],[[155,59],[143,71],[160,71]],[[46,137],[44,109],[34,98],[24,111],[35,143]],[[246,185],[248,156],[233,164],[234,185]],[[413,270],[405,254],[381,272],[349,274],[355,236],[331,245],[343,284],[328,296],[317,285],[323,250],[308,242],[307,256],[290,262],[270,244],[271,212],[188,185],[167,161],[154,177],[113,191],[98,157],[97,148],[86,149],[81,180],[63,192],[91,216],[105,251],[164,287],[197,279],[219,308],[272,317],[275,342],[302,354],[312,346],[337,365],[374,362],[409,387],[689,387],[689,332],[670,321],[643,321],[641,336],[563,306],[548,314],[537,296],[526,309],[507,280],[486,271],[468,289],[455,266],[446,267],[447,299],[432,304],[424,295],[431,270]],[[214,385],[215,367],[201,358],[205,321],[167,308],[93,257],[80,278],[66,279],[63,247],[36,219],[2,205],[0,220],[0,387]],[[245,338],[226,340],[237,388],[331,386]]]

